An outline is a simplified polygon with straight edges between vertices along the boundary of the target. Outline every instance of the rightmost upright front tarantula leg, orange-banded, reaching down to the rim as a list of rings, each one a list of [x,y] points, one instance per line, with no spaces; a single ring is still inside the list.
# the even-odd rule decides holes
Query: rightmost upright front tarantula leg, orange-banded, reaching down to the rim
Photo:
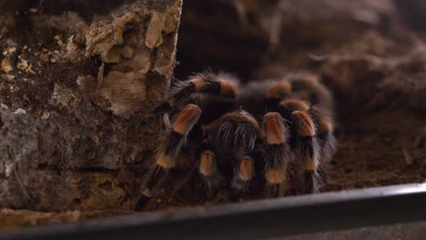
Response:
[[[320,145],[316,137],[316,127],[310,115],[302,111],[294,111],[293,123],[297,130],[297,145],[301,164],[303,165],[304,193],[317,193],[320,188]]]

